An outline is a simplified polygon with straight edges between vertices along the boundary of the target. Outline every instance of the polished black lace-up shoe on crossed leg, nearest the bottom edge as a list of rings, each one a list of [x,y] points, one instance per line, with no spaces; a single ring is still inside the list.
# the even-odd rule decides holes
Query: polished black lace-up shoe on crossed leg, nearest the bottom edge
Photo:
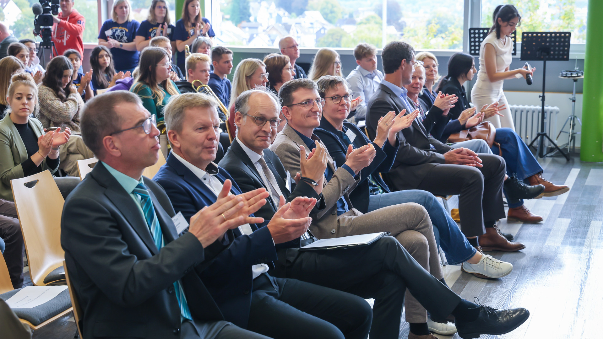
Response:
[[[525,308],[496,309],[479,305],[479,315],[473,322],[456,320],[458,336],[463,339],[479,338],[480,334],[500,335],[513,331],[529,318]]]

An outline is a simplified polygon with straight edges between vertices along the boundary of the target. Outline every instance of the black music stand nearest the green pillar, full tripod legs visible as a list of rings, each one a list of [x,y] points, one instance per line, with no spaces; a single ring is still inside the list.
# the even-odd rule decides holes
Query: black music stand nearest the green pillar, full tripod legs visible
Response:
[[[538,157],[548,156],[557,149],[567,161],[569,155],[566,154],[545,131],[545,79],[546,79],[546,60],[567,61],[569,60],[569,44],[572,33],[570,32],[523,32],[522,34],[522,61],[542,60],[542,109],[540,110],[540,131],[528,147],[532,147],[538,140]],[[555,147],[552,151],[545,153],[545,138]]]

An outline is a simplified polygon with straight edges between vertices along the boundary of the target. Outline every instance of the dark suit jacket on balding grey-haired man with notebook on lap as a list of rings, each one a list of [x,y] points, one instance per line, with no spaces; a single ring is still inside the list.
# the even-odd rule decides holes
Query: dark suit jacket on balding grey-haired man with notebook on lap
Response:
[[[291,201],[295,197],[320,199],[320,196],[314,191],[314,188],[305,182],[300,182],[299,185],[292,183],[291,188],[293,189],[293,192],[289,191],[285,183],[287,177],[285,167],[273,151],[268,149],[264,150],[264,160],[266,160],[266,164],[268,165],[268,168],[270,168],[270,171],[274,173],[276,182],[279,185],[280,191],[285,195],[286,201]],[[236,185],[238,185],[243,192],[253,191],[254,189],[262,187],[268,189],[264,185],[262,177],[260,177],[260,174],[257,172],[256,166],[253,165],[251,159],[249,159],[247,153],[245,153],[237,139],[232,141],[226,154],[224,154],[224,158],[220,160],[218,165],[221,166],[221,168],[224,168],[224,170],[235,179]],[[279,206],[274,203],[273,199],[266,200],[267,203],[253,215],[264,218],[265,220],[270,220],[277,209],[279,209]],[[315,213],[318,213],[318,211],[312,211],[311,214]]]

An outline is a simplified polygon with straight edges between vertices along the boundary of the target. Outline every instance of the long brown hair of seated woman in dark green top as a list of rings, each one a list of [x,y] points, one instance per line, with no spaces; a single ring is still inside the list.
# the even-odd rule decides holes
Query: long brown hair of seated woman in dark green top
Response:
[[[160,106],[163,103],[163,90],[159,88],[159,85],[163,86],[165,90],[171,95],[180,94],[178,89],[174,86],[174,83],[168,79],[163,80],[162,83],[157,83],[155,74],[157,63],[161,62],[165,57],[169,60],[168,52],[163,48],[149,47],[140,53],[140,61],[138,64],[139,74],[134,80],[134,85],[131,89],[132,92],[138,93],[143,85],[149,86],[151,89],[151,99],[157,100],[156,106]]]

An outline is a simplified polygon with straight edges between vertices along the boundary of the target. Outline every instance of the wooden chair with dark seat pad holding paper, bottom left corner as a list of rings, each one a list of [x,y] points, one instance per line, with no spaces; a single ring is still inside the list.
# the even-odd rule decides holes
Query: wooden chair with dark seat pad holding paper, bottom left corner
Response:
[[[28,288],[44,288],[41,286],[30,286]],[[19,289],[21,290],[21,289]],[[4,256],[0,255],[0,299],[8,300],[14,293],[13,284],[10,282],[10,276],[8,275],[8,268],[4,261]],[[52,304],[48,304],[52,302]],[[51,305],[51,306],[45,306]],[[58,296],[49,300],[42,305],[34,308],[16,308],[13,311],[19,317],[19,321],[31,329],[36,330],[54,322],[63,315],[68,314],[72,311],[71,304],[67,298],[67,294],[62,292]],[[1,332],[1,331],[0,331]],[[1,337],[1,335],[0,335]]]

